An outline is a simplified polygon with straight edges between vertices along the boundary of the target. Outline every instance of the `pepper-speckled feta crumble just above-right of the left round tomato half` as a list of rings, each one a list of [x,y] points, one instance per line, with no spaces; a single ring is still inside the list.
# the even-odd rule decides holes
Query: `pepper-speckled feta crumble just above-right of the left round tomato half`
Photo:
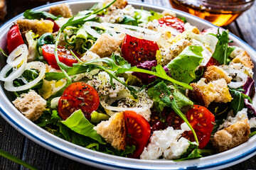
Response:
[[[118,77],[118,79],[124,82],[124,78]],[[115,79],[113,79],[115,87],[112,86],[110,84],[110,75],[107,72],[100,72],[92,80],[88,81],[87,84],[93,86],[100,95],[109,95],[110,98],[117,97],[117,93],[125,89],[125,86]]]

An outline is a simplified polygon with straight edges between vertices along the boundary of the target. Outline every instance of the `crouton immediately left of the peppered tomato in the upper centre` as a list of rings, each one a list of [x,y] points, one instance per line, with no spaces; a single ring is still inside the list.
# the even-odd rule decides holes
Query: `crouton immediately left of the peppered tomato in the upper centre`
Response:
[[[110,57],[122,43],[122,38],[114,38],[108,33],[100,35],[94,45],[90,48],[91,52],[100,57]]]

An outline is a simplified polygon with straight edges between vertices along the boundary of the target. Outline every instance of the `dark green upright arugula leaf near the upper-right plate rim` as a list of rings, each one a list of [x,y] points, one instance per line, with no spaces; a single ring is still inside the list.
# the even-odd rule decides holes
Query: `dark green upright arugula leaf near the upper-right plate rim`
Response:
[[[216,35],[210,35],[214,35],[216,38],[218,38],[218,43],[215,47],[215,51],[213,52],[212,57],[220,64],[228,64],[230,61],[228,60],[228,57],[230,56],[231,52],[235,50],[235,47],[228,47],[228,42],[230,42],[228,39],[228,30],[220,33],[220,30],[218,29],[218,33]]]

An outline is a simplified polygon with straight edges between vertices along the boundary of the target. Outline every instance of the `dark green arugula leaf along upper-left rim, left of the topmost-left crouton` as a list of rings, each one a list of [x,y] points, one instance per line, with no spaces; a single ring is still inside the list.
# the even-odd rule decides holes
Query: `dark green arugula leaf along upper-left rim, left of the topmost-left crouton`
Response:
[[[51,13],[48,13],[46,11],[33,11],[32,9],[29,9],[23,13],[23,16],[26,19],[37,19],[41,20],[41,18],[46,19],[46,18],[52,18],[53,20],[57,20],[59,16],[54,16]]]

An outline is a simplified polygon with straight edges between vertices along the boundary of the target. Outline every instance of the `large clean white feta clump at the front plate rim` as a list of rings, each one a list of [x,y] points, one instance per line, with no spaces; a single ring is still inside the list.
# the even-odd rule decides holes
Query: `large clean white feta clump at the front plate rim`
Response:
[[[186,152],[190,145],[186,138],[181,137],[184,130],[174,130],[169,127],[165,130],[154,131],[150,137],[150,142],[147,147],[144,148],[140,159],[178,159]]]

